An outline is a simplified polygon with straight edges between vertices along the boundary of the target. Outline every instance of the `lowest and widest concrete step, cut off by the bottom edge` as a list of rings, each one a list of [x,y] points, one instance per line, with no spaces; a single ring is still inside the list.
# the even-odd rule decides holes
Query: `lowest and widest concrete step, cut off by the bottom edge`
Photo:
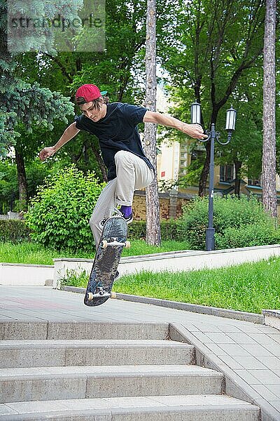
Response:
[[[0,405],[0,421],[258,421],[260,410],[222,395],[143,396]]]

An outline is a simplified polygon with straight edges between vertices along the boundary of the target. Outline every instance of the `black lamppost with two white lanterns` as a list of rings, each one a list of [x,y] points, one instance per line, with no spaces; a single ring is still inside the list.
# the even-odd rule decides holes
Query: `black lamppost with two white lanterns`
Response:
[[[228,145],[232,137],[232,131],[235,130],[235,119],[237,112],[230,107],[227,110],[227,120],[225,123],[225,130],[228,131],[228,140],[221,142],[219,140],[220,133],[215,130],[215,124],[211,124],[211,131],[206,131],[208,138],[200,140],[200,142],[207,142],[211,139],[210,145],[210,163],[209,163],[209,203],[208,203],[208,228],[206,230],[206,249],[215,250],[215,228],[213,227],[213,201],[214,201],[214,141],[217,140],[220,145]],[[198,102],[194,102],[190,107],[190,117],[192,123],[201,124],[201,107]]]

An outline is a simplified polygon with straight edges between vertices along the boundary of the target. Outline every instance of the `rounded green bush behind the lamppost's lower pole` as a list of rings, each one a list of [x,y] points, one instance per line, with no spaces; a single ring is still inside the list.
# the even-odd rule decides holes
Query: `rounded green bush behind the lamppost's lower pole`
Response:
[[[196,198],[183,209],[179,237],[185,233],[195,250],[204,250],[207,225],[208,198]],[[215,196],[214,228],[217,249],[271,244],[277,237],[274,221],[253,196]]]

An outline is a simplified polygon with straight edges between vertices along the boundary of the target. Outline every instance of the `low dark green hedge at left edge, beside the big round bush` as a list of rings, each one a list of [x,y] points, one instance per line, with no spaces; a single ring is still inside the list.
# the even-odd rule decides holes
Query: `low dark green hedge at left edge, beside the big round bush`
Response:
[[[0,220],[0,241],[19,243],[30,239],[30,229],[22,220]]]

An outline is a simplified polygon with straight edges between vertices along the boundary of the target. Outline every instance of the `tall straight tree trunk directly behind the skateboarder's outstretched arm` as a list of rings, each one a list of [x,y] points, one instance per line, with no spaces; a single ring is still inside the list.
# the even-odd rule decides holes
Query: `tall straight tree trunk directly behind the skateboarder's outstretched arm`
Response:
[[[156,110],[156,4],[155,0],[147,0],[146,20],[146,107]],[[145,152],[157,170],[157,126],[154,123],[145,123]],[[157,172],[155,172],[157,174]],[[146,188],[146,241],[153,246],[160,246],[160,200],[158,197],[158,178],[155,178]]]

